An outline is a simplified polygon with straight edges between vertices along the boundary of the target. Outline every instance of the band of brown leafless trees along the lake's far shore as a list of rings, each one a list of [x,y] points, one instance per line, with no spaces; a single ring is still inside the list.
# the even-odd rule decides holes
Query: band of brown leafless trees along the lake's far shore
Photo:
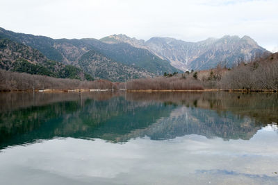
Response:
[[[74,80],[0,70],[0,91],[277,91],[278,53],[228,69],[164,73],[126,82]]]

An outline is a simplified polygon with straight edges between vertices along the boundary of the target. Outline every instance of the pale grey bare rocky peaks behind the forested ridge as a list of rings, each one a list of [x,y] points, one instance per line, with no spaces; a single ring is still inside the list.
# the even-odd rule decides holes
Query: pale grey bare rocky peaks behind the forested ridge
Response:
[[[221,64],[233,67],[238,62],[249,62],[267,53],[254,39],[244,36],[225,35],[220,39],[208,38],[200,42],[184,42],[170,37],[152,37],[143,42],[126,35],[111,35],[101,39],[107,43],[126,42],[132,46],[148,49],[159,58],[168,60],[182,71],[211,69]]]

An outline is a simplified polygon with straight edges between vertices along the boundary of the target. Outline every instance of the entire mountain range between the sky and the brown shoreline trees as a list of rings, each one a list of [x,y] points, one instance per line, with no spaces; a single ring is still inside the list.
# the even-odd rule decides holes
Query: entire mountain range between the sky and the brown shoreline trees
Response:
[[[1,69],[36,74],[41,74],[43,69],[44,72],[48,70],[45,73],[49,76],[68,78],[69,75],[59,75],[62,73],[59,70],[70,68],[76,70],[70,78],[90,76],[112,81],[160,76],[164,72],[211,69],[218,64],[233,67],[238,62],[248,62],[268,53],[248,36],[229,35],[200,42],[170,37],[152,37],[144,41],[122,34],[102,39],[52,39],[0,28],[0,39]],[[18,51],[33,54],[19,55]],[[56,67],[49,67],[50,61]],[[33,67],[35,71],[26,69],[30,65],[37,65]]]

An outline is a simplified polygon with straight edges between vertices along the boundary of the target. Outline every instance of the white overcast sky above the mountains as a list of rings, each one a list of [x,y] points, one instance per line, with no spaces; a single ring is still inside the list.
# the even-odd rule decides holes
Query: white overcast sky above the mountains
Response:
[[[1,0],[0,7],[0,27],[53,38],[249,35],[270,51],[278,46],[277,0]]]

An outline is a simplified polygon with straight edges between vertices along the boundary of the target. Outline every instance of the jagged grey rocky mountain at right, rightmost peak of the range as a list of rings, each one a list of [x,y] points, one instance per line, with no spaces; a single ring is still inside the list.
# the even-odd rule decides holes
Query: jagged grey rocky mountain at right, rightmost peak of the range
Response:
[[[233,67],[238,62],[251,62],[255,58],[261,57],[264,53],[268,53],[268,51],[248,36],[242,38],[225,36],[215,40],[208,49],[203,51],[202,55],[191,61],[189,66],[191,69],[198,70],[210,69],[218,64]]]

